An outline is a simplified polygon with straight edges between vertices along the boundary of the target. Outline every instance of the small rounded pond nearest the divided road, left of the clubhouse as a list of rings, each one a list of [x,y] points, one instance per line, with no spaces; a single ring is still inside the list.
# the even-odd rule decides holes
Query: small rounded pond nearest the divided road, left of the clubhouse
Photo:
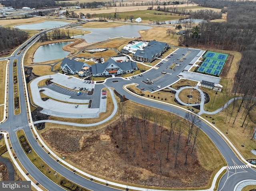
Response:
[[[45,62],[66,57],[69,52],[64,51],[62,47],[70,43],[72,43],[72,41],[52,43],[40,46],[34,53],[33,62]]]

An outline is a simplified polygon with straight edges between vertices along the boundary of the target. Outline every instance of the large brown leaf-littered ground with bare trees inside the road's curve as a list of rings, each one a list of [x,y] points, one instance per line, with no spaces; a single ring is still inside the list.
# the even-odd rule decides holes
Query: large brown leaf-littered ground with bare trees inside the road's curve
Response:
[[[42,137],[61,156],[108,179],[169,188],[208,185],[206,177],[210,177],[211,172],[200,165],[196,152],[188,154],[188,163],[184,165],[186,137],[181,136],[175,168],[173,145],[178,138],[176,133],[166,159],[169,130],[162,130],[160,142],[159,126],[154,139],[154,124],[146,123],[146,133],[143,120],[126,118],[125,129],[120,124],[122,121],[117,119],[106,128],[87,132],[54,128],[43,132]]]

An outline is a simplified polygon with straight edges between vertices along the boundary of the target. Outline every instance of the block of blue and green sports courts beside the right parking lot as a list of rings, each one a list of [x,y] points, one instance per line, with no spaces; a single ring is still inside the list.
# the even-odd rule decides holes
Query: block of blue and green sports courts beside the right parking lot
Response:
[[[203,58],[202,63],[196,71],[219,76],[226,60],[228,59],[228,54],[207,51]]]

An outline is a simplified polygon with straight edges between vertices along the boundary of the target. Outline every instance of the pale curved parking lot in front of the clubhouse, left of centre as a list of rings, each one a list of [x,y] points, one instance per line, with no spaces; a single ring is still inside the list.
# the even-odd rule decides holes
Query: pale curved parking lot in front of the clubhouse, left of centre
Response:
[[[88,92],[81,91],[81,94],[78,96],[78,90],[67,89],[62,86],[65,86],[64,84],[71,79],[69,87],[78,87],[79,85],[85,87],[86,83],[83,83],[80,79],[67,79],[65,75],[55,74],[51,75],[50,78],[55,83],[61,83],[60,85],[52,83],[48,86],[37,86],[39,81],[47,78],[49,76],[38,77],[30,84],[32,99],[36,105],[44,108],[41,111],[42,113],[66,118],[93,118],[98,117],[100,112],[106,112],[106,99],[101,98],[101,89],[104,85],[97,85],[97,88],[95,88],[94,84],[88,84],[89,90],[94,88],[94,93],[87,95]],[[76,81],[78,84],[76,84]],[[39,93],[40,90],[44,90],[42,93],[50,98],[43,101]],[[92,100],[92,106],[88,108],[90,100]],[[76,104],[78,104],[77,108],[75,107]]]

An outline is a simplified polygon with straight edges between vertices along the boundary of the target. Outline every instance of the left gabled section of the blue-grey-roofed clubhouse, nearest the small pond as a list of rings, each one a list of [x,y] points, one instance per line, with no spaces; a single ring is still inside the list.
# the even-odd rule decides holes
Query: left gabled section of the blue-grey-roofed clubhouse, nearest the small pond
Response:
[[[90,65],[85,62],[64,58],[60,64],[60,68],[66,74],[78,74],[80,77],[91,75]]]

